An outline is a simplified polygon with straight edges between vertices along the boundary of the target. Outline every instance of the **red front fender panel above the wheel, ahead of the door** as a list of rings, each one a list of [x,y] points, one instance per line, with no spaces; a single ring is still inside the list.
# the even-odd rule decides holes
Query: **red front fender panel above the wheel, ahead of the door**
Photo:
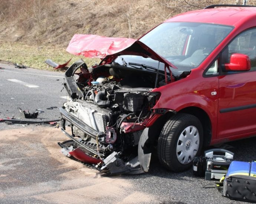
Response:
[[[180,111],[187,107],[203,109],[210,117],[212,127],[217,126],[218,78],[203,78],[202,69],[194,69],[185,79],[154,89],[161,92],[161,97],[154,108],[166,108]],[[216,138],[217,129],[212,129],[212,139]]]

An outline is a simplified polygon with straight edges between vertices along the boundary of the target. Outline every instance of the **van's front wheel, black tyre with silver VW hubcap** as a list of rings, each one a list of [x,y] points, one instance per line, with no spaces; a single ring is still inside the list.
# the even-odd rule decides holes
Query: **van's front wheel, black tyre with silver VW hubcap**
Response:
[[[200,155],[202,146],[203,127],[199,119],[190,114],[177,113],[168,119],[161,130],[158,159],[168,170],[185,171],[193,164],[193,158]]]

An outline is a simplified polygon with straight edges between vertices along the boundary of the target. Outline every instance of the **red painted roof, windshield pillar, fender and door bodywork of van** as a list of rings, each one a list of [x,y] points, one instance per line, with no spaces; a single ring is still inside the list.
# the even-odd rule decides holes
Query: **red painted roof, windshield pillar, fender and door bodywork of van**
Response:
[[[154,108],[180,111],[189,106],[203,109],[212,126],[211,144],[243,139],[256,134],[255,108],[220,113],[221,109],[253,106],[256,100],[256,76],[253,72],[204,78],[204,70],[228,43],[244,30],[255,27],[256,8],[235,7],[190,11],[165,22],[202,22],[234,26],[233,31],[186,79],[160,87],[161,98]],[[201,69],[201,70],[200,70]],[[185,82],[187,80],[187,82]],[[189,86],[188,86],[189,85]],[[211,96],[211,92],[217,95]]]

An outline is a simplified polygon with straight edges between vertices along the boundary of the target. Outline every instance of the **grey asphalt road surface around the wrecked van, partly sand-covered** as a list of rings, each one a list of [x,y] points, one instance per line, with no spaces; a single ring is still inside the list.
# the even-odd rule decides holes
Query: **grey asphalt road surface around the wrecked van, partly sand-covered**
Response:
[[[64,73],[0,67],[0,118],[19,118],[18,108],[41,109],[38,120],[59,118],[57,108],[47,108],[65,102]],[[192,169],[166,171],[155,154],[148,173],[101,177],[60,154],[56,142],[66,139],[55,127],[0,123],[0,203],[243,203],[222,197],[214,181],[194,177]],[[256,138],[228,143],[240,161],[255,160],[255,144]]]

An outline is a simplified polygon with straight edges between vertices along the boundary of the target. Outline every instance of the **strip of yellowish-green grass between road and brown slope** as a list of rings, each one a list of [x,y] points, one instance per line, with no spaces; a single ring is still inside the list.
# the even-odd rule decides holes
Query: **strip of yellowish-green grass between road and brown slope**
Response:
[[[72,60],[68,66],[81,58],[88,66],[100,62],[98,58],[91,59],[72,55],[66,52],[63,47],[57,46],[31,46],[20,42],[1,43],[0,46],[0,60],[22,64],[35,69],[53,71],[54,69],[45,63],[46,59],[52,59],[58,64],[64,64],[70,58],[72,58]]]

